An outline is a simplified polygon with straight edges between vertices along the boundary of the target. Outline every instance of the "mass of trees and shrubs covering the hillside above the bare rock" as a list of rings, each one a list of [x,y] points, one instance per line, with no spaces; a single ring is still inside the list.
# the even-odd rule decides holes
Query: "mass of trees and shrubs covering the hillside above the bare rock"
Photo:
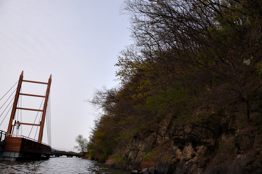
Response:
[[[262,84],[261,1],[124,0],[122,13],[134,44],[115,64],[121,83],[86,100],[98,111],[89,139],[96,157],[121,152],[167,115],[189,123],[239,100],[253,109]]]

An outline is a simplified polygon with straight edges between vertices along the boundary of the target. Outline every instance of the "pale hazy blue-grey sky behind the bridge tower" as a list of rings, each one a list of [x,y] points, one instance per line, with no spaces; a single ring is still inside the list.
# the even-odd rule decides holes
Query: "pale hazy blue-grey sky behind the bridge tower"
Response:
[[[52,74],[53,148],[73,150],[78,134],[88,138],[95,116],[93,106],[84,100],[92,99],[95,88],[111,88],[119,83],[114,81],[114,64],[119,52],[133,43],[128,17],[119,12],[122,3],[0,0],[0,98],[19,80],[22,71],[24,80],[40,82],[48,82]],[[22,93],[44,95],[45,90],[45,85],[22,83]],[[38,100],[23,96],[21,103],[39,109]],[[27,113],[21,113],[23,122],[34,122],[35,116],[26,118]],[[7,117],[0,130],[7,130],[10,115]],[[26,130],[31,127],[21,126],[22,134],[28,136]],[[44,129],[44,143],[46,134]]]

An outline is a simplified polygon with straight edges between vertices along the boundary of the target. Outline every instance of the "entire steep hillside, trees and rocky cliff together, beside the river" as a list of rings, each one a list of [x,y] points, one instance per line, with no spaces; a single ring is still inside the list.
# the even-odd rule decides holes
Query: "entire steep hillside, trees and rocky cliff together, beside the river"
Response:
[[[119,86],[90,101],[94,156],[144,173],[259,173],[261,7],[124,1],[134,44],[115,64]]]

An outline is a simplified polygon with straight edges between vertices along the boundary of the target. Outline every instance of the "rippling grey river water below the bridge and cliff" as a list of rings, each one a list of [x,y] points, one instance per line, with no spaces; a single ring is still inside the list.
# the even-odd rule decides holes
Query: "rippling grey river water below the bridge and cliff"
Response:
[[[0,161],[0,174],[130,174],[131,171],[113,170],[97,161],[81,158],[53,157],[35,161]]]

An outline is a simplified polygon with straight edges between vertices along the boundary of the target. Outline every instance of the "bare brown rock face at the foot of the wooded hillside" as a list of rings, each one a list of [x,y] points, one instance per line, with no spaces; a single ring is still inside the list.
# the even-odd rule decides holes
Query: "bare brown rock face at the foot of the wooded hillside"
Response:
[[[132,137],[126,167],[139,171],[148,167],[142,173],[161,174],[261,173],[261,121],[261,112],[248,110],[245,102],[190,125],[177,126],[171,115],[166,116]],[[145,154],[164,146],[168,158],[143,165]]]

